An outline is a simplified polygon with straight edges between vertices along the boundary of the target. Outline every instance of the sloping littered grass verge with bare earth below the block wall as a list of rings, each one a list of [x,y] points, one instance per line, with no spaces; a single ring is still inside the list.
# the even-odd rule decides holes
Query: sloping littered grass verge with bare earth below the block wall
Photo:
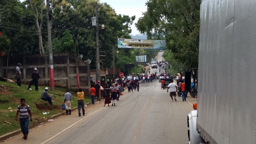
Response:
[[[21,98],[26,99],[26,104],[30,106],[32,112],[33,121],[29,122],[29,125],[36,124],[43,120],[43,117],[48,118],[64,111],[61,109],[61,104],[64,102],[66,89],[55,88],[55,91],[48,91],[49,95],[53,94],[52,103],[54,106],[50,106],[48,101],[41,100],[41,93],[45,86],[39,86],[38,91],[28,90],[26,86],[28,85],[17,87],[17,84],[0,81],[0,135],[20,129],[19,121],[15,121],[15,115]],[[32,86],[31,88],[35,87]],[[71,108],[74,108],[77,107],[76,92],[71,91],[71,94]],[[84,103],[88,102],[90,102],[90,98],[84,97]],[[9,107],[12,109],[8,109]],[[49,114],[43,115],[43,112],[49,112]],[[12,125],[4,123],[4,121],[8,121]]]

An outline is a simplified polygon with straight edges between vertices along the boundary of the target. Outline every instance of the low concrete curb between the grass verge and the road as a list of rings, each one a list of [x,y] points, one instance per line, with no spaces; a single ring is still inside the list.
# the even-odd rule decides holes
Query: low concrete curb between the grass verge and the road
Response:
[[[85,105],[90,105],[90,104],[91,104],[91,102],[89,102],[89,103],[87,103],[87,104],[85,104]],[[78,108],[78,107],[72,108],[71,111],[75,111],[77,108]],[[56,115],[53,115],[53,116],[51,116],[51,117],[49,117],[49,118],[46,118],[46,119],[44,119],[44,120],[41,120],[40,122],[38,122],[38,123],[36,123],[36,124],[34,124],[34,125],[29,126],[28,129],[34,128],[34,127],[40,125],[40,123],[42,123],[42,122],[47,122],[49,119],[55,119],[55,118],[57,118],[57,117],[59,117],[59,116],[62,116],[62,115],[64,115],[64,114],[66,114],[66,111],[65,111],[65,112],[61,112],[61,113],[56,114]],[[13,132],[6,133],[6,134],[0,136],[0,141],[6,140],[6,139],[8,139],[8,138],[10,138],[10,137],[13,137],[13,136],[15,136],[15,135],[18,135],[19,133],[22,133],[21,129],[18,129],[18,130],[13,131]]]

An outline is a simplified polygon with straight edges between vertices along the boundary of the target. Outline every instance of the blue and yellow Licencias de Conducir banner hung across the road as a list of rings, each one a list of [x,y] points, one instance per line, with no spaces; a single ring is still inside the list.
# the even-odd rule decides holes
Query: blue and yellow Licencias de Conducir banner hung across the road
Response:
[[[117,39],[118,48],[165,49],[165,40]]]

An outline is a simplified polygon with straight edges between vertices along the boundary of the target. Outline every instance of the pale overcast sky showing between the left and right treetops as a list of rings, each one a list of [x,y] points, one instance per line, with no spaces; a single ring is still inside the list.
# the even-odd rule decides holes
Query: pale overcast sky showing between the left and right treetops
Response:
[[[101,3],[108,3],[113,9],[115,9],[116,14],[136,16],[134,23],[137,23],[138,18],[142,17],[142,12],[147,11],[145,6],[147,0],[100,0]],[[132,35],[140,34],[135,25],[131,26]]]

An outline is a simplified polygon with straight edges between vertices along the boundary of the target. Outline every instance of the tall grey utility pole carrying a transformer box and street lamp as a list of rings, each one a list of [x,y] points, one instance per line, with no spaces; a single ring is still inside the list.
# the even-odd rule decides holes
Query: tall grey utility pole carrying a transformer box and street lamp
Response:
[[[99,26],[98,26],[98,4],[95,5],[96,17],[96,81],[100,81],[100,48],[99,48]]]

